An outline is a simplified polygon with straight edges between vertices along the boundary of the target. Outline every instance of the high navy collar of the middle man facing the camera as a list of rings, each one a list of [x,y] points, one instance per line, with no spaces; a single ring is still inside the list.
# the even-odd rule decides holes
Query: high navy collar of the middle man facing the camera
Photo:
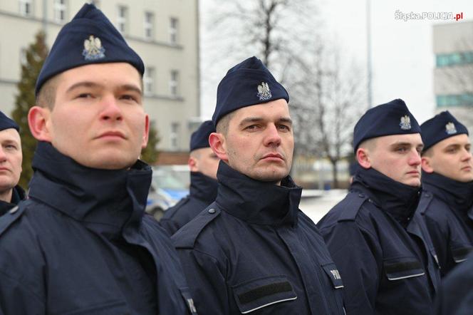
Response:
[[[302,188],[290,176],[278,186],[254,180],[220,161],[217,180],[215,202],[230,215],[251,224],[297,224]]]

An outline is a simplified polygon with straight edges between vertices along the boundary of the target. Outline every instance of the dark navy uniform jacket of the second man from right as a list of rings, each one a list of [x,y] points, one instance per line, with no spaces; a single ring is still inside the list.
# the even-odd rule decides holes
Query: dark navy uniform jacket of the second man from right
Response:
[[[420,188],[370,168],[318,222],[345,284],[347,314],[432,314],[440,272]]]

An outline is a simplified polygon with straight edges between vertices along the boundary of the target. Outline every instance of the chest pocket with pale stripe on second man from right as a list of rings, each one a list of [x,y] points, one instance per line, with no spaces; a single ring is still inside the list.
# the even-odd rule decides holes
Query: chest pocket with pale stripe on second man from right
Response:
[[[420,277],[425,274],[424,267],[415,257],[385,259],[383,265],[386,277],[390,281]]]

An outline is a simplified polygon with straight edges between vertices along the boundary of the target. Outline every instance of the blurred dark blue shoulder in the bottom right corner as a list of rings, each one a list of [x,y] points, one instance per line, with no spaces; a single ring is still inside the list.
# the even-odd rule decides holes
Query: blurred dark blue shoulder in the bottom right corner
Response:
[[[455,267],[442,285],[435,299],[436,315],[471,315],[473,313],[473,254],[468,261]]]

